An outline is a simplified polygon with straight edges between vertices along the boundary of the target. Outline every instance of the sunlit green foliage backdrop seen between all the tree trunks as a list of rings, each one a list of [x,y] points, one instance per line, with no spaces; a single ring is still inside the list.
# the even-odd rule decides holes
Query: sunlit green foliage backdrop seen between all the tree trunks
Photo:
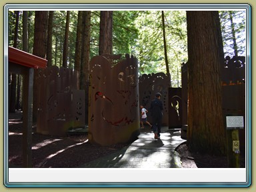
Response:
[[[53,65],[61,66],[67,11],[54,11]],[[245,55],[245,12],[229,11],[235,23],[235,37],[239,55]],[[35,11],[29,13],[29,53],[33,51]],[[219,11],[226,55],[233,55],[231,25],[228,11]],[[20,11],[18,48],[22,49],[22,11]],[[90,57],[99,54],[100,11],[91,11]],[[15,12],[9,11],[9,45],[13,45]],[[69,67],[75,60],[77,11],[71,11],[69,26]],[[187,19],[185,11],[165,11],[165,33],[171,86],[181,86],[181,63],[187,62]],[[161,11],[113,11],[113,53],[129,53],[139,61],[139,73],[166,73],[163,47]],[[56,62],[55,62],[56,61]]]

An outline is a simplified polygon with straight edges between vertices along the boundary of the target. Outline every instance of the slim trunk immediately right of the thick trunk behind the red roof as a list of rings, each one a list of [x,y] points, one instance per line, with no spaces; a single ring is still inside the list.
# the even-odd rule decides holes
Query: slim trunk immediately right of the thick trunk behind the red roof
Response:
[[[48,32],[47,32],[47,66],[51,67],[53,65],[53,55],[52,55],[52,47],[53,47],[53,14],[54,11],[49,11],[48,17]]]

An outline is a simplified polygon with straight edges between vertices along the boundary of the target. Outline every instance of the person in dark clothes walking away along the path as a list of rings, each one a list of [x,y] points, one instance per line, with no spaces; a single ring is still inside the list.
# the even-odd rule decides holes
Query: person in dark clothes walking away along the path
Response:
[[[163,117],[163,103],[161,99],[161,93],[155,94],[155,99],[151,101],[150,109],[152,117],[153,133],[155,139],[160,139],[161,123]]]

